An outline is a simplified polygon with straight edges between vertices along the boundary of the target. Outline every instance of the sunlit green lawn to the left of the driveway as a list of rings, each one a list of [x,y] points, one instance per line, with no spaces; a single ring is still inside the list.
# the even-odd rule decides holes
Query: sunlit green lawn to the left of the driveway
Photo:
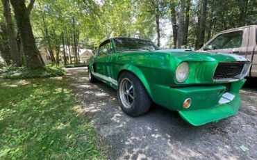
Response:
[[[0,79],[0,159],[105,159],[69,83]]]

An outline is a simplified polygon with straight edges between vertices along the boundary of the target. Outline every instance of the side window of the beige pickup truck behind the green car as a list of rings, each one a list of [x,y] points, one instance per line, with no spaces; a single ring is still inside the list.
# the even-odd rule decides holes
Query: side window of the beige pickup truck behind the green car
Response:
[[[242,31],[224,33],[217,36],[207,47],[210,49],[239,48],[242,45]]]

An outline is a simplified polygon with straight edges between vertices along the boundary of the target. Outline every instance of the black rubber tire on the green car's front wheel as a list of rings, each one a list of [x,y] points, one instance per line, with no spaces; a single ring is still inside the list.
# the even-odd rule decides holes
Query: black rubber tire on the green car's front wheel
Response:
[[[131,86],[133,86],[133,103],[129,106],[130,108],[128,108],[128,106],[126,107],[126,103],[122,102],[122,95],[124,95],[122,94],[124,93],[122,91],[122,86],[124,86],[122,84],[122,81],[125,81],[127,79],[129,80],[129,82],[131,82]],[[129,94],[129,91],[126,94]],[[125,96],[127,96],[126,94]],[[136,77],[131,72],[123,72],[119,76],[117,96],[119,99],[119,103],[121,104],[122,111],[124,111],[128,115],[131,115],[132,117],[144,115],[151,108],[151,97],[149,97],[147,90],[144,88],[140,79],[138,79],[138,77]]]

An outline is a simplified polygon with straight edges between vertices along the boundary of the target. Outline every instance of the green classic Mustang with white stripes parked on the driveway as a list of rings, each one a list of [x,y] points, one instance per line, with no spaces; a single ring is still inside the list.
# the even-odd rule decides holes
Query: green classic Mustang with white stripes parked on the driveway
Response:
[[[88,77],[117,89],[128,115],[143,115],[154,102],[199,126],[238,112],[250,67],[235,54],[160,50],[148,40],[110,38],[88,60]]]

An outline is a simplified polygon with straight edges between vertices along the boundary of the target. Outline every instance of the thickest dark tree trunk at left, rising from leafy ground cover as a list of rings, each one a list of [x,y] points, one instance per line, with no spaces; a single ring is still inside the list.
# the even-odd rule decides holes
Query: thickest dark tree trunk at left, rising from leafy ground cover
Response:
[[[35,45],[35,39],[29,19],[29,12],[24,0],[10,0],[13,6],[17,27],[22,38],[22,46],[26,58],[26,67],[43,67],[44,61]]]

